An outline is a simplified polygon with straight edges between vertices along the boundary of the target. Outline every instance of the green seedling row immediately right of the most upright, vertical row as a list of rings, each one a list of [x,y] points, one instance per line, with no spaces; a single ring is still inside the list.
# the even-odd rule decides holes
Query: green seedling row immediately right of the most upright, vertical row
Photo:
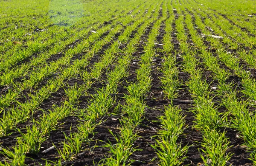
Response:
[[[185,11],[184,11],[185,12]],[[183,67],[184,71],[190,74],[189,82],[186,85],[192,93],[195,107],[192,112],[195,114],[195,128],[202,132],[202,142],[200,149],[201,158],[206,165],[226,165],[232,154],[227,153],[229,141],[225,137],[225,131],[221,128],[226,123],[226,115],[218,113],[218,108],[214,105],[213,93],[209,90],[209,84],[203,81],[202,69],[198,68],[196,53],[189,48],[186,43],[187,36],[183,27],[183,16],[177,22],[177,38],[183,36],[180,45],[184,45]],[[183,44],[182,44],[183,43]],[[180,47],[183,50],[183,47]]]

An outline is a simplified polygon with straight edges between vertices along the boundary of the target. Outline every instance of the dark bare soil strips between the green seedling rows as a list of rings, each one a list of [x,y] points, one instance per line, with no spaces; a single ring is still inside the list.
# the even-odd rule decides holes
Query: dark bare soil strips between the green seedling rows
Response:
[[[175,19],[177,19],[179,16],[177,12],[175,12]],[[174,21],[175,22],[175,21]],[[179,50],[178,40],[176,37],[176,29],[175,24],[172,24],[173,26],[173,32],[172,32],[172,43],[175,43],[175,51]],[[122,81],[120,86],[117,88],[117,91],[119,94],[127,94],[127,90],[125,89],[125,86],[127,86],[131,82],[136,82],[136,69],[139,68],[140,64],[140,55],[143,54],[143,46],[147,42],[148,34],[150,33],[152,28],[152,25],[149,26],[149,28],[145,31],[145,35],[142,37],[139,47],[137,48],[137,52],[133,54],[133,58],[131,60],[131,64],[129,67],[129,75],[125,78],[125,80]],[[165,34],[164,31],[165,25],[162,23],[159,35],[157,36],[156,43],[163,44],[163,36]],[[116,35],[115,39],[117,39],[119,34]],[[188,42],[192,42],[189,40]],[[207,41],[205,41],[206,45],[209,45]],[[104,53],[104,50],[109,48],[111,43],[108,43],[105,45],[102,50],[97,53],[92,59],[90,59],[90,65],[85,67],[84,70],[90,71],[90,67],[93,66],[102,54]],[[122,47],[125,48],[125,45]],[[145,109],[145,114],[143,117],[143,121],[141,124],[136,128],[136,131],[138,131],[138,135],[140,138],[137,139],[134,143],[134,147],[137,147],[137,149],[140,149],[140,151],[134,152],[130,159],[134,160],[134,163],[131,165],[133,166],[156,166],[158,163],[158,158],[155,150],[150,146],[151,144],[155,144],[155,135],[158,134],[158,131],[161,129],[161,124],[158,121],[158,118],[163,115],[164,107],[167,106],[170,101],[165,98],[164,94],[162,93],[163,89],[161,88],[162,84],[160,81],[161,76],[163,74],[160,72],[159,68],[162,66],[163,57],[166,56],[164,53],[161,52],[163,46],[156,45],[155,49],[157,50],[156,56],[153,59],[152,63],[152,72],[151,72],[151,89],[146,94],[144,101],[146,105],[148,106]],[[172,52],[172,55],[175,55],[175,51]],[[214,54],[214,50],[212,51]],[[62,56],[62,54],[54,55],[52,56],[49,61],[55,61],[56,59],[59,59]],[[79,59],[81,57],[81,54],[77,55],[72,59],[74,61],[75,59]],[[198,58],[200,59],[200,58]],[[189,74],[183,72],[181,66],[183,63],[183,59],[180,58],[180,56],[177,55],[177,67],[179,69],[179,79],[183,80],[183,83],[188,82],[189,80]],[[227,70],[229,70],[227,67],[223,66]],[[113,66],[109,66],[109,68],[113,68]],[[204,69],[204,66],[200,66],[200,68]],[[254,77],[256,77],[256,70],[251,69],[251,73]],[[212,79],[212,72],[207,71],[204,69],[204,78],[207,79],[208,83],[211,83],[211,85],[217,84],[216,81]],[[106,71],[103,72],[103,75],[99,81],[96,81],[93,83],[92,87],[88,90],[89,94],[95,94],[96,90],[99,88],[102,88],[105,86],[105,83],[102,82],[106,78]],[[47,80],[44,80],[44,82],[41,82],[37,88],[40,88],[46,83]],[[227,80],[227,82],[239,82],[239,78],[237,76],[230,76],[230,78]],[[38,108],[38,111],[35,113],[34,117],[35,119],[42,114],[41,110],[50,110],[52,105],[58,105],[60,106],[63,101],[67,99],[67,96],[65,95],[64,89],[68,88],[69,86],[73,86],[75,83],[84,84],[80,76],[76,76],[76,78],[72,78],[69,80],[65,80],[67,82],[64,87],[61,87],[58,89],[57,92],[52,93],[51,96],[41,104],[41,106]],[[6,87],[2,87],[0,90],[0,94],[5,93]],[[35,89],[36,90],[36,89]],[[24,91],[23,95],[27,96],[27,94],[30,93],[29,91]],[[81,96],[79,98],[79,104],[78,109],[84,109],[87,107],[87,104],[90,103],[90,97],[88,96]],[[183,103],[180,101],[192,101],[191,94],[188,91],[188,87],[185,84],[180,85],[178,97],[177,100],[174,101],[174,106],[180,107],[182,109],[181,114],[185,117],[186,125],[188,126],[182,135],[179,137],[179,141],[177,143],[181,143],[182,146],[189,145],[189,150],[186,154],[186,160],[184,164],[189,164],[190,166],[198,166],[200,163],[203,163],[203,160],[200,157],[200,152],[198,149],[202,148],[200,142],[202,141],[202,133],[196,129],[193,128],[194,121],[195,121],[195,115],[192,113],[193,109],[193,103]],[[25,102],[27,98],[20,98],[20,102]],[[119,104],[125,104],[125,100],[123,96],[117,96],[116,97],[116,103]],[[215,99],[215,101],[218,101],[218,98]],[[117,110],[115,110],[115,108]],[[219,112],[224,112],[224,107],[218,108]],[[101,160],[106,158],[106,156],[110,155],[108,152],[109,149],[105,148],[104,145],[108,143],[109,141],[112,144],[116,143],[116,140],[113,138],[113,135],[109,132],[111,130],[114,134],[118,134],[120,127],[119,120],[122,118],[122,115],[119,115],[120,109],[118,109],[118,104],[115,104],[113,108],[111,108],[108,113],[97,120],[97,122],[102,121],[102,123],[94,129],[94,135],[90,135],[90,141],[84,142],[84,150],[77,154],[73,161],[69,162],[63,162],[64,165],[67,166],[93,166],[96,165],[96,163],[99,163]],[[29,166],[39,165],[38,163],[45,163],[46,160],[51,161],[57,161],[59,158],[58,152],[56,149],[53,149],[47,153],[43,153],[45,149],[48,149],[49,147],[54,144],[57,148],[61,148],[61,142],[64,141],[64,133],[66,135],[69,135],[70,132],[77,132],[77,125],[79,124],[79,117],[76,115],[70,115],[69,117],[65,118],[63,121],[60,121],[58,124],[58,128],[52,132],[50,132],[49,139],[47,141],[44,141],[44,143],[41,145],[41,150],[37,155],[33,154],[27,154],[26,158],[26,164]],[[19,124],[17,128],[23,129],[22,132],[25,132],[24,128],[26,126],[32,125],[32,119],[29,119],[24,124]],[[71,131],[70,131],[71,128]],[[223,129],[224,130],[224,129]],[[242,146],[244,144],[244,141],[242,138],[238,137],[240,136],[239,132],[232,129],[232,128],[226,128],[225,131],[226,137],[229,138],[230,146],[232,146],[228,152],[233,153],[231,159],[229,160],[230,163],[233,163],[233,166],[252,166],[253,163],[250,161],[249,155],[250,153],[247,152],[247,150]],[[17,137],[21,136],[19,132],[13,130],[13,133],[10,136],[0,138],[1,146],[12,148],[16,144]],[[95,146],[96,145],[96,146]],[[0,161],[4,159],[3,155],[0,155]]]

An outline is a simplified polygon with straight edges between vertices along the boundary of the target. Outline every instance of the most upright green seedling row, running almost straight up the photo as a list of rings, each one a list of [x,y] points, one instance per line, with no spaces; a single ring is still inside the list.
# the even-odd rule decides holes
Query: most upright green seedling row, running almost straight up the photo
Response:
[[[170,17],[166,20],[166,34],[163,37],[163,53],[166,55],[163,59],[163,67],[161,72],[163,77],[163,93],[170,100],[170,104],[165,107],[164,115],[159,118],[162,128],[159,131],[155,145],[151,145],[156,149],[160,166],[176,166],[181,165],[186,159],[185,155],[189,146],[181,146],[177,143],[178,137],[185,129],[185,119],[181,114],[181,109],[173,105],[173,99],[177,98],[180,80],[176,66],[176,54],[173,52],[174,45],[171,42],[172,23],[175,15],[172,6],[169,7]]]

